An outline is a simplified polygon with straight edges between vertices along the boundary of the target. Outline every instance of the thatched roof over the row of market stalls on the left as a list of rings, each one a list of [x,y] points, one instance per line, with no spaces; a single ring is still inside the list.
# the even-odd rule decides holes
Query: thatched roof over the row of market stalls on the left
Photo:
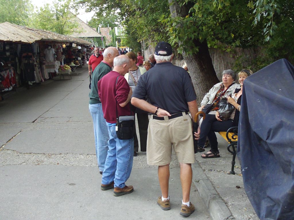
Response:
[[[9,22],[0,23],[0,41],[33,43],[40,40],[91,45],[90,42],[80,38],[57,34],[51,31],[19,26]]]

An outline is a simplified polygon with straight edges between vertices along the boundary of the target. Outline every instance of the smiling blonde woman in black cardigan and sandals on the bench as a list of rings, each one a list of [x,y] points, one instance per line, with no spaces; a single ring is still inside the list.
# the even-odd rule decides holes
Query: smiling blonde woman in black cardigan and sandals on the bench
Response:
[[[241,109],[241,96],[242,96],[242,90],[243,90],[243,82],[252,73],[253,72],[251,70],[241,70],[238,73],[241,89],[236,89],[232,97],[229,97],[229,96],[227,97],[228,102],[235,107],[235,111],[233,111],[228,121],[222,121],[219,118],[218,111],[216,112],[215,118],[207,117],[205,120],[203,120],[201,124],[201,132],[206,132],[206,131],[202,131],[202,129],[208,130],[207,137],[211,145],[211,149],[207,153],[202,154],[201,155],[202,158],[219,158],[220,157],[220,154],[218,151],[218,142],[217,142],[215,132],[227,131],[232,126],[238,126],[240,109]],[[211,115],[207,115],[207,116],[211,116]]]

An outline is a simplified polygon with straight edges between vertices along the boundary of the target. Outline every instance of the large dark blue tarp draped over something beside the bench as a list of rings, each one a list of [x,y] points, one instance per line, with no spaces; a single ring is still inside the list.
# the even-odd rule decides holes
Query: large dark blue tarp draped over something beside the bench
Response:
[[[294,219],[294,67],[281,59],[244,81],[237,155],[261,220]]]

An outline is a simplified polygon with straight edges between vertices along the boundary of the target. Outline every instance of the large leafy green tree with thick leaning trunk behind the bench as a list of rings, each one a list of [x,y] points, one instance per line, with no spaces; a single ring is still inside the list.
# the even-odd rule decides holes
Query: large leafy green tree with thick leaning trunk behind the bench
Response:
[[[99,13],[118,10],[126,37],[135,36],[137,42],[169,41],[183,55],[199,99],[218,82],[210,47],[231,52],[235,47],[262,46],[260,68],[271,60],[263,62],[265,57],[293,55],[293,50],[286,51],[287,44],[293,47],[293,0],[83,0],[83,4]]]

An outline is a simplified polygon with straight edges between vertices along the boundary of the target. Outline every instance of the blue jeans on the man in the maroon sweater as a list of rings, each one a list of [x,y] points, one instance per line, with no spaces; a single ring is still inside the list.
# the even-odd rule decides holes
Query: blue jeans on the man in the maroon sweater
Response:
[[[114,187],[123,188],[133,167],[134,140],[120,140],[116,136],[115,125],[107,127],[109,149],[101,183],[107,185],[114,181]]]

